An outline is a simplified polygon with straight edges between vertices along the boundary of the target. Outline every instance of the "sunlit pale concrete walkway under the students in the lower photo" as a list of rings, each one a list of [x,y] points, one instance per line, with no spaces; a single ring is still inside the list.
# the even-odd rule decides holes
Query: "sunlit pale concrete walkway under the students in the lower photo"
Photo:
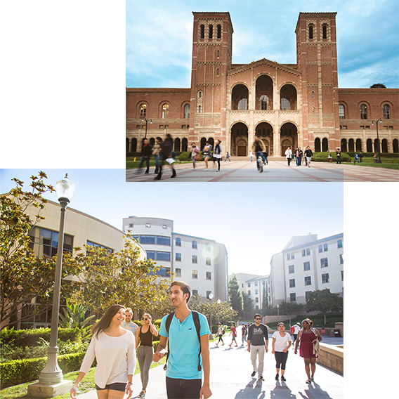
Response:
[[[246,346],[230,348],[227,336],[225,346],[217,347],[211,343],[211,398],[214,399],[342,399],[344,398],[344,377],[320,365],[316,366],[315,382],[306,384],[307,379],[303,359],[289,349],[286,382],[275,381],[275,357],[269,352],[265,355],[263,378],[259,381],[251,377],[252,366]],[[240,341],[239,341],[240,342]],[[343,339],[323,337],[325,344],[342,344]],[[140,374],[133,377],[133,398],[141,390]],[[163,366],[150,369],[146,399],[166,399],[165,372]],[[96,399],[96,391],[78,396],[79,399]]]

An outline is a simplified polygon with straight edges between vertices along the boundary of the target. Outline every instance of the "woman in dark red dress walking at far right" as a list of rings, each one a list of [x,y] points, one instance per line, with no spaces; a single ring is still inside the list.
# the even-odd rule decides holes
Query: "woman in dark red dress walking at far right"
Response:
[[[298,334],[298,339],[295,343],[295,351],[297,353],[299,346],[299,355],[305,362],[305,371],[308,379],[306,384],[314,381],[316,370],[316,358],[318,357],[318,342],[322,340],[317,329],[313,328],[313,322],[310,319],[302,321],[302,328]],[[311,371],[311,374],[310,374]]]

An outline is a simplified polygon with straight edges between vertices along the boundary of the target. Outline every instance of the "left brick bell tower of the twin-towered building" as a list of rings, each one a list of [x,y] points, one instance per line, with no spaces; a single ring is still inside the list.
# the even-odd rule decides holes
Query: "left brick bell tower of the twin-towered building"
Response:
[[[227,71],[232,60],[230,13],[193,13],[189,141],[225,142]]]

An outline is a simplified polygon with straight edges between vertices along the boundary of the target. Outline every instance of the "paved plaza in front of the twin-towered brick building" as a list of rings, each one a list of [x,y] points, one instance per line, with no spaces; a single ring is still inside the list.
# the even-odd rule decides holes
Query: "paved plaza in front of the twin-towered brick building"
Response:
[[[231,162],[221,162],[221,170],[217,171],[217,164],[209,162],[209,171],[204,171],[204,162],[197,162],[197,167],[193,171],[192,164],[174,163],[177,176],[171,179],[171,168],[164,166],[162,181],[168,182],[243,182],[243,181],[270,181],[270,182],[356,182],[356,181],[375,181],[388,182],[399,181],[399,170],[374,168],[372,166],[359,166],[348,164],[336,164],[327,162],[312,162],[310,168],[296,166],[295,162],[291,166],[287,165],[284,159],[273,159],[268,165],[263,166],[263,173],[256,169],[256,162],[249,160],[233,160]],[[145,169],[126,170],[126,181],[149,182],[154,181],[155,167],[150,168],[150,174],[144,174]],[[155,181],[157,183],[159,181]]]

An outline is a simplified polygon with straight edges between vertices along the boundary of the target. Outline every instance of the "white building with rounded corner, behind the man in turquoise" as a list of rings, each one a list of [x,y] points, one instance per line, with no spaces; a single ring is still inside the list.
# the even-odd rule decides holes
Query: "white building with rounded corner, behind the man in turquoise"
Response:
[[[123,219],[124,232],[130,232],[162,268],[157,273],[190,285],[193,294],[228,299],[228,254],[224,244],[209,238],[174,232],[174,221],[129,216]]]

